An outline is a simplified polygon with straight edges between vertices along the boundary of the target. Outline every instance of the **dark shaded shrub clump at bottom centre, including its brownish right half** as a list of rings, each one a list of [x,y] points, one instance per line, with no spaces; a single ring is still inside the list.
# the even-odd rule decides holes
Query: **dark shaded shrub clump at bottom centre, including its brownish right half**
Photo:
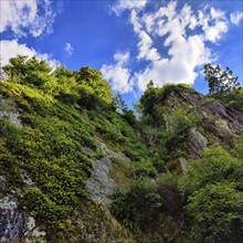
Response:
[[[182,204],[171,175],[154,182],[140,177],[112,199],[112,213],[135,232],[138,242],[173,242],[181,231]]]

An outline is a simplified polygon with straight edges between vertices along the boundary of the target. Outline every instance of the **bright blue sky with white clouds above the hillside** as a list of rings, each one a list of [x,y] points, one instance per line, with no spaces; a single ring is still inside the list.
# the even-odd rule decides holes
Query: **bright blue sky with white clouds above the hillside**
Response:
[[[131,105],[154,80],[205,94],[207,62],[243,81],[243,2],[1,0],[1,65],[15,54],[102,71]]]

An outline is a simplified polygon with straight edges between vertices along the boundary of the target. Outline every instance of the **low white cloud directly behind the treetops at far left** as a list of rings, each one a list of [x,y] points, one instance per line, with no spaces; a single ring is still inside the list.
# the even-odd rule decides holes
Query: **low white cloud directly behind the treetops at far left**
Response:
[[[28,47],[27,44],[20,44],[17,40],[11,41],[0,41],[0,50],[1,50],[1,66],[4,66],[9,63],[9,59],[19,55],[28,55],[33,56],[36,55],[40,60],[45,60],[50,66],[55,67],[60,65],[60,62],[47,53],[38,53],[34,49]]]

